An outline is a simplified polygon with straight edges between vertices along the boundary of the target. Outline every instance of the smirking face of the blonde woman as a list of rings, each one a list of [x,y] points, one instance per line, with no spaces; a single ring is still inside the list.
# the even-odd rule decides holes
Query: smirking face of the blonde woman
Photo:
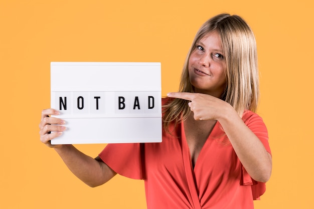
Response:
[[[211,32],[196,43],[189,59],[190,82],[195,92],[220,97],[226,83],[226,61],[220,36]]]

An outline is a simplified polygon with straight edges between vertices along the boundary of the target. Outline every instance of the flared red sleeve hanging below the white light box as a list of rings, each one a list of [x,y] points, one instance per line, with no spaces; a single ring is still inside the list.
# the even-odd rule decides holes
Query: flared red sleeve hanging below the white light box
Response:
[[[108,144],[99,157],[116,173],[133,179],[143,179],[141,144]]]

